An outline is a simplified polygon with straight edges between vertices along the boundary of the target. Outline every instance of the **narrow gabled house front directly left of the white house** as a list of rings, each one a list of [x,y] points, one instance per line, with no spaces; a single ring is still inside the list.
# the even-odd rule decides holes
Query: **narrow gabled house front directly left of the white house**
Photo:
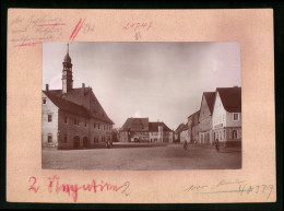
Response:
[[[212,144],[212,113],[215,92],[204,92],[201,99],[199,114],[199,143]]]

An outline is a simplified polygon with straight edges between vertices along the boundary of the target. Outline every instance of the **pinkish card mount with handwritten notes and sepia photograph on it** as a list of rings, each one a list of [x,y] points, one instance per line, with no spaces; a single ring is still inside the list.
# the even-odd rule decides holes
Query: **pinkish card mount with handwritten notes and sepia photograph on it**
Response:
[[[10,9],[8,201],[275,201],[272,17]]]

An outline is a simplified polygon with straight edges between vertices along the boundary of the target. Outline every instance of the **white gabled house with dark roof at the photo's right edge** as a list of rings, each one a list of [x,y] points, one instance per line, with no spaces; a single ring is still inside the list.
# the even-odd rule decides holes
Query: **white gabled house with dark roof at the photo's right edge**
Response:
[[[241,145],[241,87],[217,87],[213,108],[213,140]]]

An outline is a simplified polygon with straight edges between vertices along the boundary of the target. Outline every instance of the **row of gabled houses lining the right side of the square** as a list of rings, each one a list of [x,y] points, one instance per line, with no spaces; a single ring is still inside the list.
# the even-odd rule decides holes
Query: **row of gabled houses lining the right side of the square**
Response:
[[[202,94],[200,109],[180,124],[175,141],[225,146],[241,145],[241,87],[217,87]]]

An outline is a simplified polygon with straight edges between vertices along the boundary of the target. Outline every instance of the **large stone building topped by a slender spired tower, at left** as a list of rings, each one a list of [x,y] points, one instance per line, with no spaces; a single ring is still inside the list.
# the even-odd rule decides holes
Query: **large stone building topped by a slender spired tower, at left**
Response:
[[[72,62],[69,48],[63,59],[62,90],[43,91],[43,148],[95,148],[111,141],[114,122],[97,101],[92,87],[73,87]]]

